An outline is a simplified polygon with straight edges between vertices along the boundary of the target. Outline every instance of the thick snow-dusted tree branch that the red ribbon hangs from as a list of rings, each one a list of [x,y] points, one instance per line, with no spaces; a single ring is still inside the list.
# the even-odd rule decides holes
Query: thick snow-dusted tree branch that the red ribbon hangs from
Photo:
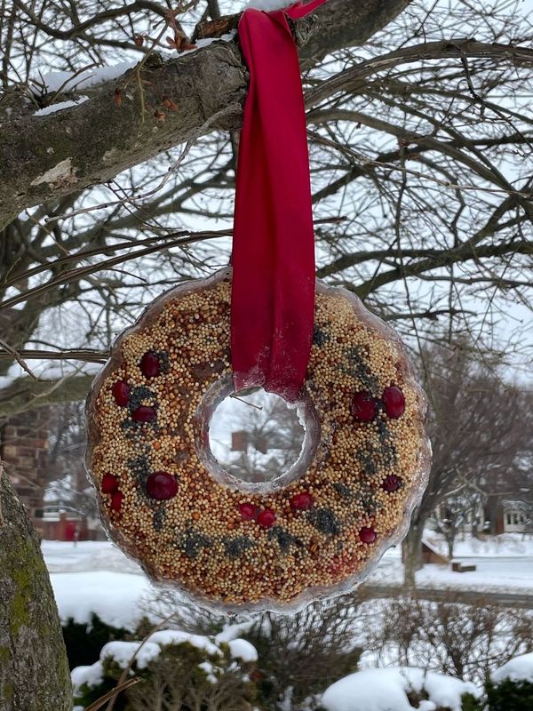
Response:
[[[317,11],[314,33],[300,50],[303,65],[364,43],[410,1],[330,0]],[[90,100],[49,116],[33,116],[28,102],[4,96],[0,224],[3,217],[32,205],[111,180],[179,143],[240,127],[247,72],[236,42],[216,42],[166,62],[152,57],[139,77],[135,70],[131,73],[131,78],[93,87],[84,92]],[[120,106],[114,101],[116,87],[123,87]],[[178,109],[165,110],[163,97],[171,98]],[[157,110],[165,114],[164,121],[155,117]]]

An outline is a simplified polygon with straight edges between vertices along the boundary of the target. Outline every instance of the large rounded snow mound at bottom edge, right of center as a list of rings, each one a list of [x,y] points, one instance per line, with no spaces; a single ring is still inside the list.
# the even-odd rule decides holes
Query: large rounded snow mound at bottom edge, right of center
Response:
[[[422,689],[429,699],[420,702],[418,711],[437,707],[461,711],[463,694],[481,696],[481,690],[471,682],[424,669],[397,667],[366,669],[345,676],[324,691],[321,701],[327,711],[412,711],[407,692]]]

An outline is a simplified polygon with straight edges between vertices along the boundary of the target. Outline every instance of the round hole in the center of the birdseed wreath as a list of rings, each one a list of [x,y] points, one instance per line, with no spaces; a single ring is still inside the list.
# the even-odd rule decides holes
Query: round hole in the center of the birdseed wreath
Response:
[[[228,395],[211,417],[209,442],[220,467],[247,483],[272,482],[298,463],[306,430],[282,397],[251,387]]]

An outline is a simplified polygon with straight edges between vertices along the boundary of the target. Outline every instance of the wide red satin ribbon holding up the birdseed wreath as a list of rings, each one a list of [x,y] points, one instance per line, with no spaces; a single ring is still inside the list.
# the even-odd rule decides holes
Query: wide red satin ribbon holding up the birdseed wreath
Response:
[[[293,401],[303,386],[314,320],[314,229],[296,19],[247,10],[239,39],[250,70],[239,143],[233,237],[231,356],[235,391],[263,386]]]

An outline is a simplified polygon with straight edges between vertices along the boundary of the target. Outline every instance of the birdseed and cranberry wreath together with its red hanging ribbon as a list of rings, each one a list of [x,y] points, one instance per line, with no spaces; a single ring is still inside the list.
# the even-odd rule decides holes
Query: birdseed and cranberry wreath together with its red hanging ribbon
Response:
[[[109,536],[155,581],[222,611],[288,611],[354,587],[407,531],[430,464],[426,397],[401,341],[353,293],[314,279],[287,14],[318,4],[243,13],[232,267],[155,300],[87,401]],[[209,443],[218,404],[251,386],[305,423],[298,462],[268,483],[236,479]]]

